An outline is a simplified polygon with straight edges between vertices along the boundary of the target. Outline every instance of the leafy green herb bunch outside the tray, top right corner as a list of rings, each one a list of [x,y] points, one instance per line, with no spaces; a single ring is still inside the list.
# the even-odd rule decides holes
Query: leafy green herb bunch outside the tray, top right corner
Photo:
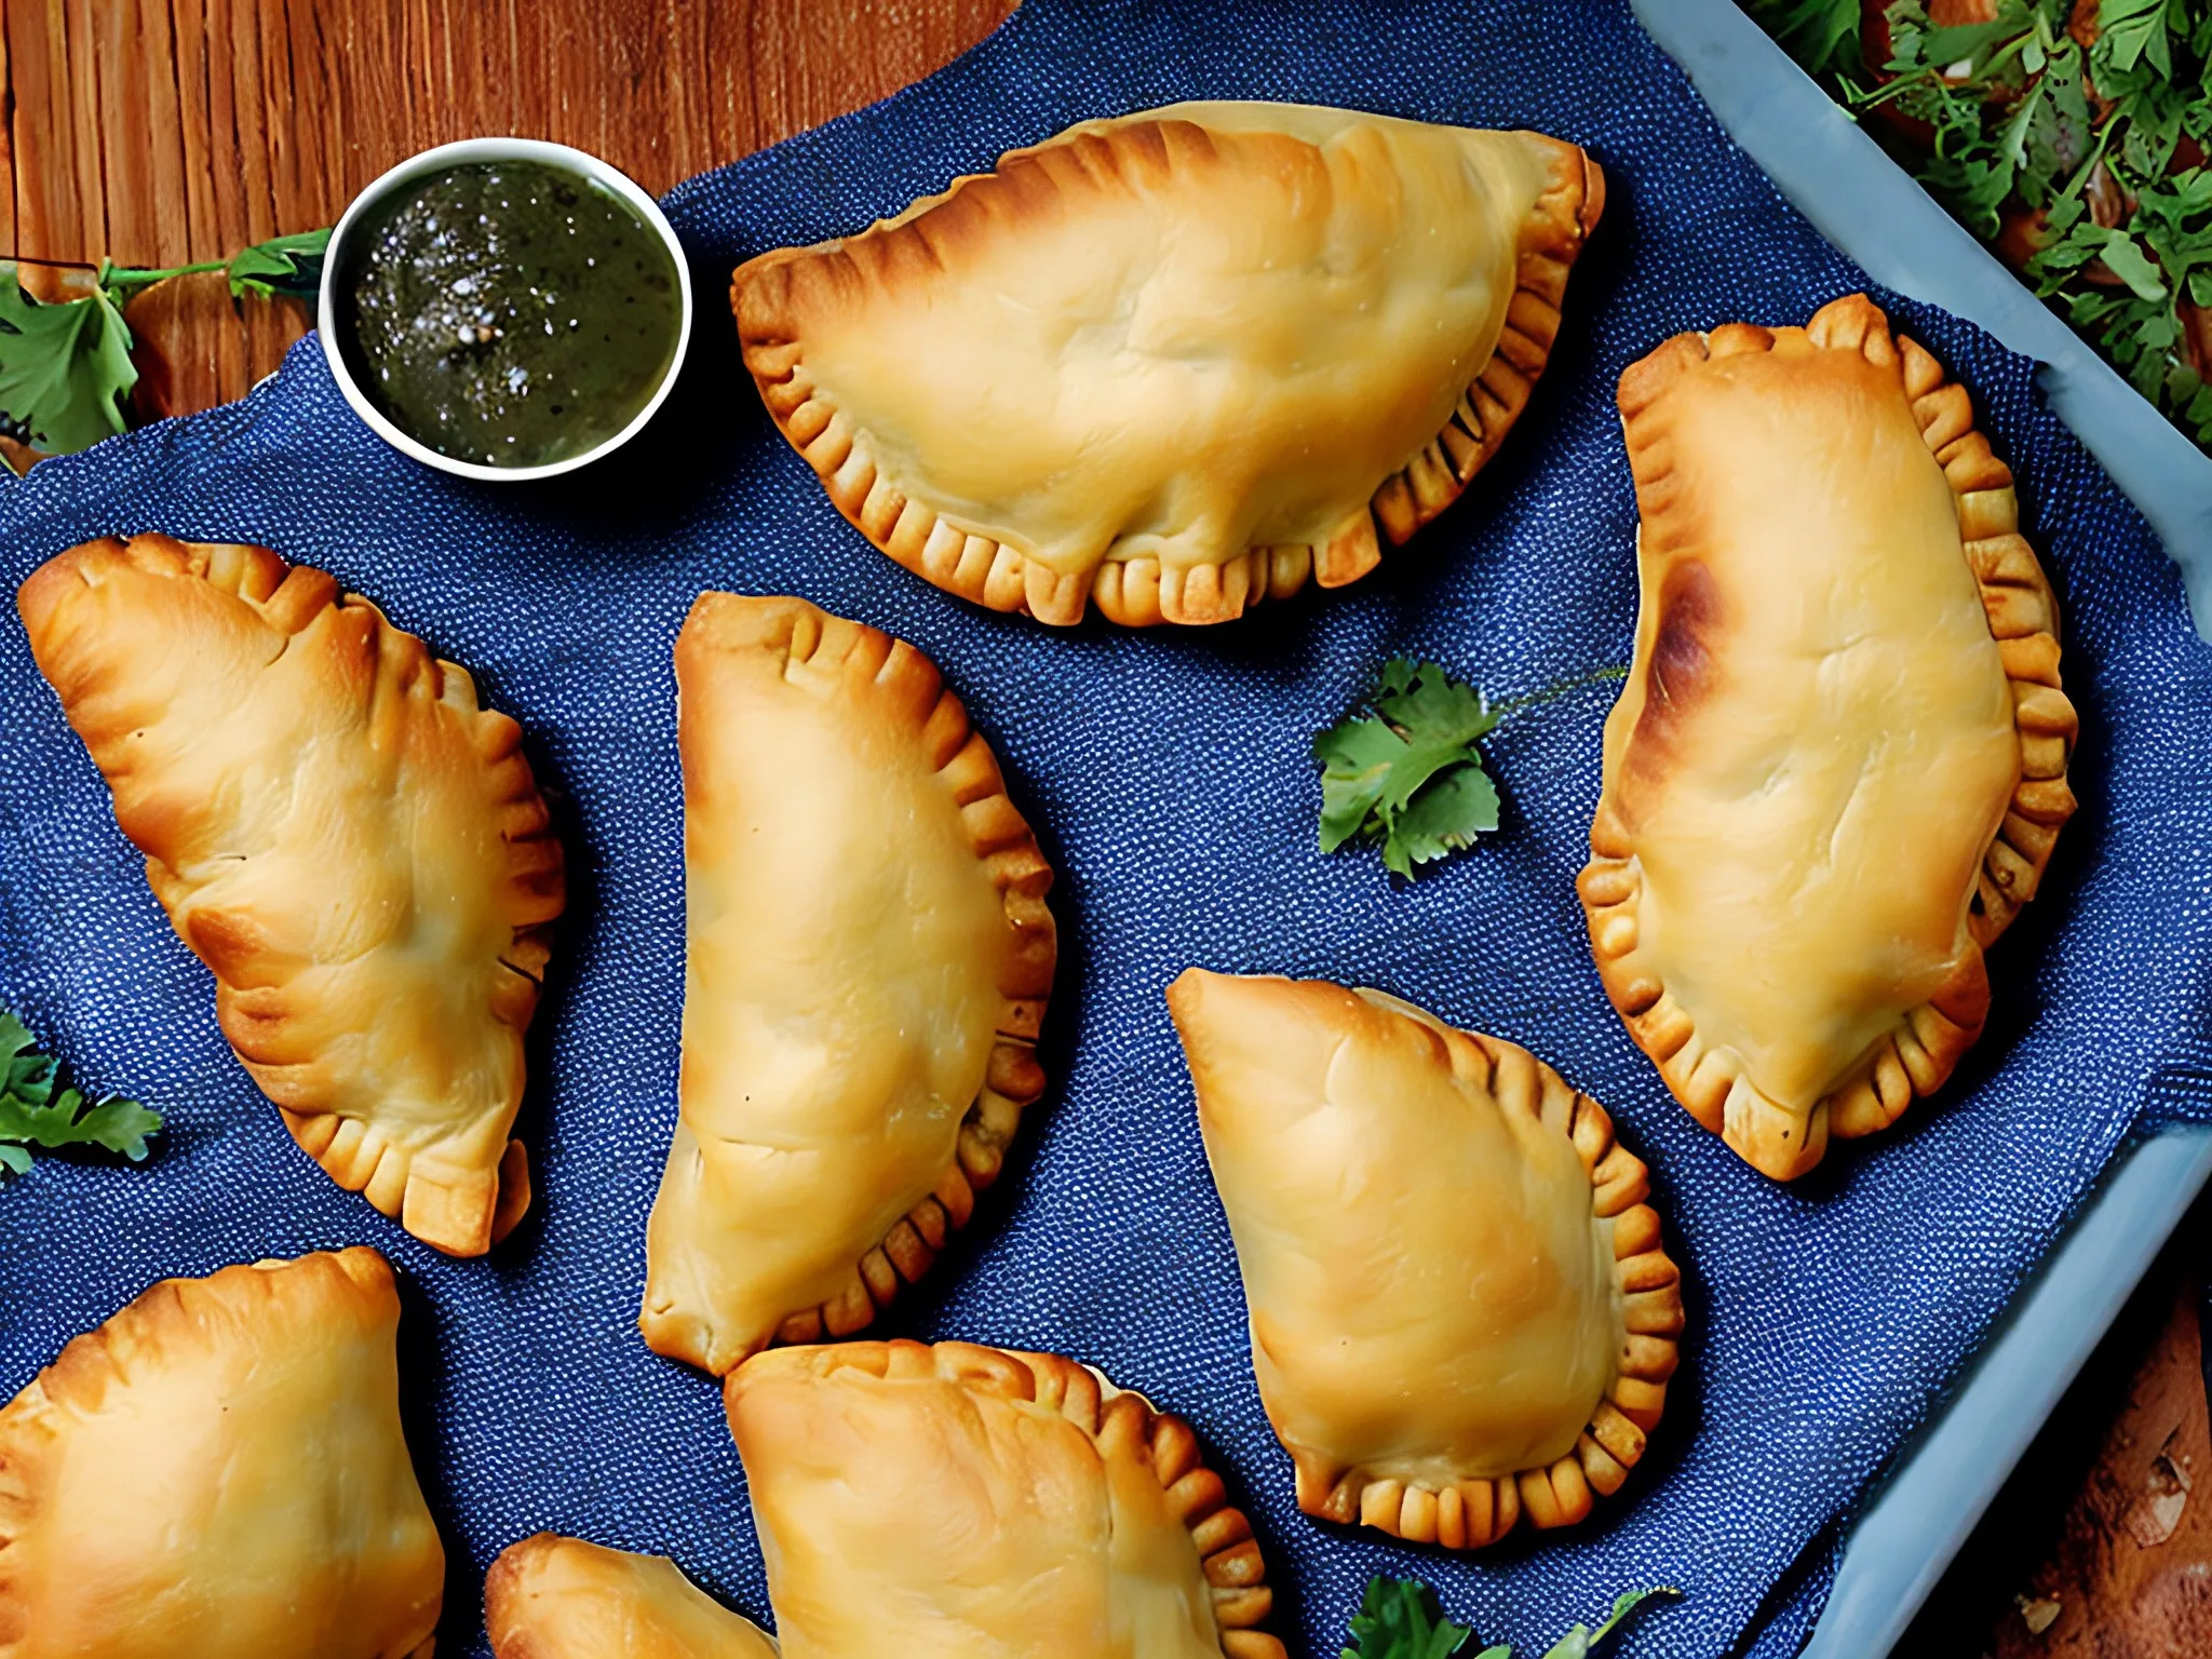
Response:
[[[2174,425],[2212,447],[2212,0],[1743,7]]]

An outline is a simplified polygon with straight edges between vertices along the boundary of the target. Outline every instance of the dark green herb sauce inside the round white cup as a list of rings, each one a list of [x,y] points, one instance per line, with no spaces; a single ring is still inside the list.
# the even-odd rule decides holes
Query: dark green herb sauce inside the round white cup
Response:
[[[487,467],[613,438],[661,385],[684,301],[622,197],[540,161],[416,179],[363,226],[338,283],[354,383],[407,436]]]

